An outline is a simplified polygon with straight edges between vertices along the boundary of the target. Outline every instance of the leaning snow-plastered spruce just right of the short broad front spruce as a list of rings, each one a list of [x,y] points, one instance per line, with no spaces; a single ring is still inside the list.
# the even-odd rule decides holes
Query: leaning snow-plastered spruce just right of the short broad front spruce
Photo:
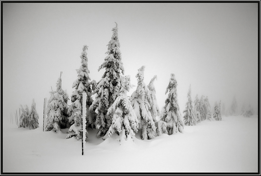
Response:
[[[153,139],[156,136],[156,127],[150,114],[149,89],[144,83],[144,69],[142,66],[138,69],[136,78],[138,80],[137,89],[131,94],[131,105],[138,117],[138,129],[141,129],[142,140]]]

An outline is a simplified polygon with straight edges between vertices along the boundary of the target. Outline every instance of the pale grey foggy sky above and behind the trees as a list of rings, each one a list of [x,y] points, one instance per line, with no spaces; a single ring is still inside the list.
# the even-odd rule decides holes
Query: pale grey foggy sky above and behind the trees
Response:
[[[212,108],[221,100],[228,109],[236,95],[239,110],[245,102],[257,112],[257,3],[4,3],[3,115],[34,98],[42,119],[60,71],[70,97],[84,44],[90,78],[98,82],[115,21],[125,75],[133,85],[142,65],[147,85],[157,75],[160,109],[174,73],[181,113],[189,84],[193,101],[204,95]]]

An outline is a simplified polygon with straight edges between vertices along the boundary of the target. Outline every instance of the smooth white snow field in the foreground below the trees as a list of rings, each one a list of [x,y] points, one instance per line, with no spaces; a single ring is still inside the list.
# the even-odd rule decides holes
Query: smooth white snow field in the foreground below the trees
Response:
[[[41,121],[41,120],[39,120]],[[258,172],[258,116],[222,116],[185,126],[183,134],[119,143],[88,131],[81,140],[66,133],[18,128],[4,120],[3,172]]]

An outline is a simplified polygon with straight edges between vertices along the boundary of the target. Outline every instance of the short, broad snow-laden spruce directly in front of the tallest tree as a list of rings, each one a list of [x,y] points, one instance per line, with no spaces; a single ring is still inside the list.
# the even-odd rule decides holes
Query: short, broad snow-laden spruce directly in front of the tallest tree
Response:
[[[118,141],[134,140],[134,132],[138,132],[138,118],[127,96],[127,92],[130,90],[130,75],[121,76],[121,79],[122,86],[119,96],[107,112],[108,116],[112,116],[112,124],[103,137],[104,140],[115,132],[119,135]]]

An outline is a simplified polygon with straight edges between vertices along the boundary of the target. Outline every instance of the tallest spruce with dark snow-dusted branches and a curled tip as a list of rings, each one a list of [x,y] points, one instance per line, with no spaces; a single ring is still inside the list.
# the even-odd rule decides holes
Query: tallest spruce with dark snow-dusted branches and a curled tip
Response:
[[[108,46],[108,55],[105,61],[99,67],[98,71],[105,68],[105,72],[99,82],[96,84],[94,93],[95,100],[90,106],[90,110],[97,113],[96,125],[99,127],[97,136],[104,136],[112,123],[112,114],[108,114],[109,107],[119,96],[121,88],[120,76],[124,75],[123,63],[121,61],[120,43],[118,39],[118,27],[112,29],[113,34]]]

